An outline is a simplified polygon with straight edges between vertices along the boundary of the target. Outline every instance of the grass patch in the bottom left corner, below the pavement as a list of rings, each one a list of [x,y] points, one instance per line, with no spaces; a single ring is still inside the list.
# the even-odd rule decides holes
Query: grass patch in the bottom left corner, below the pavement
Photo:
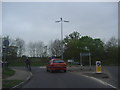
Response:
[[[23,82],[23,80],[3,80],[2,88],[12,88],[21,82]]]

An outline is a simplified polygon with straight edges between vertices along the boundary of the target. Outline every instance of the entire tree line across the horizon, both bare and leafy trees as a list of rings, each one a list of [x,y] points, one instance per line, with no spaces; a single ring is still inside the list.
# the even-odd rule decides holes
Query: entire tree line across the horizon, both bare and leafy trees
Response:
[[[62,48],[64,48],[64,59],[80,60],[80,53],[90,52],[92,55],[92,63],[96,60],[103,60],[103,62],[117,61],[118,59],[118,40],[115,37],[110,38],[106,43],[99,38],[92,38],[90,36],[81,36],[79,32],[73,32],[67,35],[63,41],[54,40],[48,46],[44,42],[30,42],[27,45],[25,41],[16,38],[0,37],[0,55],[3,56],[4,49],[2,41],[9,40],[9,47],[7,48],[7,57],[15,58],[27,55],[30,57],[47,57],[62,55]],[[63,44],[63,46],[62,46]],[[3,50],[3,52],[2,52]],[[1,54],[3,53],[3,55]]]

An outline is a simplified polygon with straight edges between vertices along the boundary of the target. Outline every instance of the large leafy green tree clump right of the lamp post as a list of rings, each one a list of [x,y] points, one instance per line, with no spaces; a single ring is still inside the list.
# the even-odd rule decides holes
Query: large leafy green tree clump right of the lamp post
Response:
[[[92,55],[99,58],[104,50],[104,43],[100,39],[93,39],[89,36],[80,37],[78,32],[71,33],[64,41],[67,43],[64,51],[66,58],[79,59],[82,52],[91,52]]]

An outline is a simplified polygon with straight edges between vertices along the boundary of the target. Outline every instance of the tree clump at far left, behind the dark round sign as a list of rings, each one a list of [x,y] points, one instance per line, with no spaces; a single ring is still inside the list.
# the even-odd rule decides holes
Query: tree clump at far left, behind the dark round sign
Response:
[[[21,57],[24,54],[25,51],[25,42],[24,40],[17,38],[17,39],[12,39],[7,37],[2,37],[2,42],[4,40],[9,41],[9,45],[7,47],[4,47],[2,44],[2,49],[3,49],[3,55],[6,55],[8,58],[12,57]]]

